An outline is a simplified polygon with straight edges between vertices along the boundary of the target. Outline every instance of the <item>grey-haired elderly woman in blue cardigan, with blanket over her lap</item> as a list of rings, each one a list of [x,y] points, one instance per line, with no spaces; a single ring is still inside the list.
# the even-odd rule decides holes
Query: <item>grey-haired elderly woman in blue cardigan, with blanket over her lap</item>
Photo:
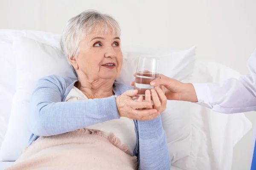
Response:
[[[9,170],[169,170],[160,112],[166,96],[115,82],[122,68],[120,28],[97,11],[70,19],[61,47],[77,79],[49,76],[32,94],[29,147]],[[151,105],[151,95],[154,108]]]

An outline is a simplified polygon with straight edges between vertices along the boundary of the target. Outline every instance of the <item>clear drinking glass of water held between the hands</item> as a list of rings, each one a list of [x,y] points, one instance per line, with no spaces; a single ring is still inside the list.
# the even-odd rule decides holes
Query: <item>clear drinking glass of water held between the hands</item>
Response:
[[[137,65],[134,89],[138,90],[138,94],[133,97],[135,101],[143,96],[145,101],[145,91],[154,88],[150,82],[159,78],[159,59],[151,57],[140,57]],[[153,101],[151,98],[151,103]]]

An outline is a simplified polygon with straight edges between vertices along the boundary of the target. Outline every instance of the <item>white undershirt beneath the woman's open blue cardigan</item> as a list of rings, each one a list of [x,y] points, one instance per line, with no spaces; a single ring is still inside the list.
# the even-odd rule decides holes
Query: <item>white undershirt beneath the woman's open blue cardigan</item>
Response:
[[[85,96],[83,92],[74,86],[67,95],[65,102],[87,99],[87,96]],[[120,119],[113,119],[106,122],[97,123],[95,125],[87,126],[86,128],[101,130],[107,136],[109,136],[110,133],[114,133],[114,135],[121,140],[122,144],[126,144],[130,155],[133,156],[137,136],[135,133],[134,121],[132,119],[120,117]]]

